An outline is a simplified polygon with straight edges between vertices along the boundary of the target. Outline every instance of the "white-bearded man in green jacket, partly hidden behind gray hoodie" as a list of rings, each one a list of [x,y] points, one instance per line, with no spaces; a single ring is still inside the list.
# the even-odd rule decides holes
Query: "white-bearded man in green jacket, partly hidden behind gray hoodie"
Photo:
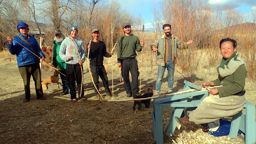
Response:
[[[68,81],[66,79],[66,63],[64,60],[62,60],[59,56],[59,49],[60,49],[60,45],[62,43],[62,41],[65,39],[64,35],[62,35],[62,32],[60,30],[57,30],[54,33],[54,46],[53,46],[53,62],[52,65],[57,68],[57,66],[59,67],[59,71],[63,74],[65,74],[65,76],[63,76],[63,74],[60,73],[60,79],[62,80],[62,93],[60,95],[66,95],[69,93],[68,90]]]

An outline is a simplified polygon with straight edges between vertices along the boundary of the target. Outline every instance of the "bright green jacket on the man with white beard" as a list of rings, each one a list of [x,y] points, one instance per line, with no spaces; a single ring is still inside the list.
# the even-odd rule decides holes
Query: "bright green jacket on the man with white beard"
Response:
[[[61,43],[57,43],[56,41],[53,41],[54,46],[53,46],[53,66],[59,66],[59,70],[64,70],[66,69],[66,63],[63,61],[60,56],[59,56],[59,50],[60,50],[60,45]]]

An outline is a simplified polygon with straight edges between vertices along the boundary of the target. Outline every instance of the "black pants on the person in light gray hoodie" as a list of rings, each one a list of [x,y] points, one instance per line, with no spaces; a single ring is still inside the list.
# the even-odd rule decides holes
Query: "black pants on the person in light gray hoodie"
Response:
[[[81,85],[82,85],[82,73],[81,73],[80,65],[71,65],[67,63],[66,77],[68,80],[69,94],[71,96],[71,100],[76,99],[75,82],[77,82],[79,95],[81,93]],[[82,85],[82,93],[80,98],[84,98],[84,85]]]

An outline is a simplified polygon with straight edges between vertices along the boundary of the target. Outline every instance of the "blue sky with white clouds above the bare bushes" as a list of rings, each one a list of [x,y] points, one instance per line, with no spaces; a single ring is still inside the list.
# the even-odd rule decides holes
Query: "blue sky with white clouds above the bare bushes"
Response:
[[[107,0],[106,0],[107,1]],[[112,0],[108,0],[110,2]],[[115,0],[118,1],[122,8],[128,13],[136,16],[142,16],[145,25],[150,27],[150,24],[154,21],[153,8],[161,0]],[[256,11],[256,0],[209,0],[207,2],[211,8],[221,7],[223,10],[227,7],[235,8],[242,14],[251,13],[252,10]]]

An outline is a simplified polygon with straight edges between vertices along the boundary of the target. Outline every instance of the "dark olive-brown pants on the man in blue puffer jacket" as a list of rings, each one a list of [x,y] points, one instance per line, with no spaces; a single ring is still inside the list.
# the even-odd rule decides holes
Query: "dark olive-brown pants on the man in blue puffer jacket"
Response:
[[[41,84],[41,70],[39,63],[26,65],[18,68],[23,79],[25,89],[25,99],[30,99],[30,78],[33,77],[36,87],[37,98],[43,96],[43,88]]]

